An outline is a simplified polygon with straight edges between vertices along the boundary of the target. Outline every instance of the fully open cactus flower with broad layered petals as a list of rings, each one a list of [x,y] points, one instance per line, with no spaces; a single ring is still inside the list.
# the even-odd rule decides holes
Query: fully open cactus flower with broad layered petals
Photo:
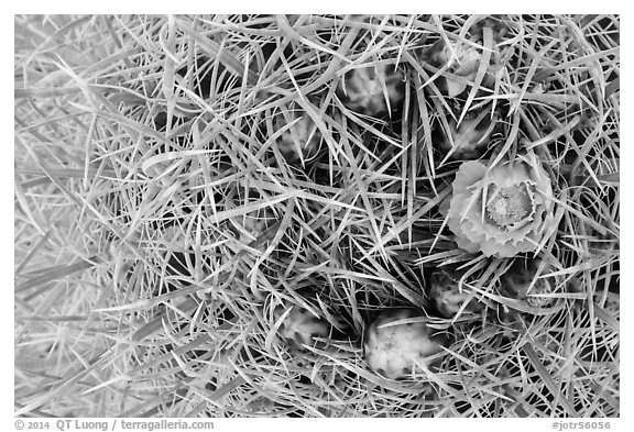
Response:
[[[550,179],[535,155],[489,169],[478,160],[463,163],[452,184],[447,224],[467,252],[511,257],[535,252],[553,226]]]

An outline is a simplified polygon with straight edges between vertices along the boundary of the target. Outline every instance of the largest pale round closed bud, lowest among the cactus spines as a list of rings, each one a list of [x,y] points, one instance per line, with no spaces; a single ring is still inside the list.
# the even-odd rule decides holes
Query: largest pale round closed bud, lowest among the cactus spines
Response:
[[[365,331],[364,354],[368,365],[387,378],[404,378],[412,372],[420,372],[428,357],[442,352],[446,339],[433,334],[422,321],[396,323],[422,318],[414,309],[396,309],[383,312]]]

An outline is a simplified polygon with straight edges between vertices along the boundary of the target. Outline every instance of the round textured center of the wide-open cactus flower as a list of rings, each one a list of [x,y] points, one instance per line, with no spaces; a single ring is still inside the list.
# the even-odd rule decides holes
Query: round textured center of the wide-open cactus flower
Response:
[[[526,218],[533,210],[533,200],[524,188],[500,188],[487,204],[487,215],[499,226],[507,228]]]

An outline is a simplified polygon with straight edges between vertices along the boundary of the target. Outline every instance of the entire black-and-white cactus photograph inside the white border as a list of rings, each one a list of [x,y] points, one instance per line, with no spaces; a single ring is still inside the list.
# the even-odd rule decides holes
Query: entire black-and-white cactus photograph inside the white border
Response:
[[[620,14],[13,24],[17,428],[621,417]]]

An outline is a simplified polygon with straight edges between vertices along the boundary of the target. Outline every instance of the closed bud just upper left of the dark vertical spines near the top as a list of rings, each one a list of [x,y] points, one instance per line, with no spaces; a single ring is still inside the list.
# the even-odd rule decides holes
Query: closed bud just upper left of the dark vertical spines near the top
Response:
[[[404,95],[403,74],[394,65],[362,65],[347,71],[337,85],[343,106],[370,117],[394,111]]]

